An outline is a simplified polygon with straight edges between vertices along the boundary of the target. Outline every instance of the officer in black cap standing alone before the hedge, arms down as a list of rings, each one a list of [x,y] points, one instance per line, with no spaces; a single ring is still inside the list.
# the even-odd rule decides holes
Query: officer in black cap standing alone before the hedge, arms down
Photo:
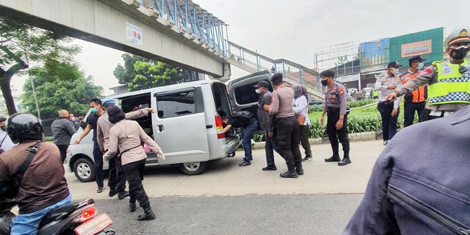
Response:
[[[321,85],[325,86],[325,105],[323,112],[321,112],[320,122],[323,125],[325,113],[328,115],[326,124],[326,133],[330,138],[331,148],[333,149],[333,156],[325,159],[326,162],[339,161],[338,166],[344,166],[351,163],[349,159],[349,137],[347,129],[347,114],[346,114],[346,88],[340,83],[336,83],[335,72],[333,70],[325,70],[321,72]],[[340,159],[338,143],[340,139],[343,146],[344,158]]]

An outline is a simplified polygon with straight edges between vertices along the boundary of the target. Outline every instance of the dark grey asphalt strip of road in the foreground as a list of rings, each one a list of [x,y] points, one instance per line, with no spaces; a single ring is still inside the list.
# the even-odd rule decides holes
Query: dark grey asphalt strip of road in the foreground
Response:
[[[247,195],[151,199],[156,220],[139,222],[127,201],[100,200],[117,234],[340,234],[363,194]]]

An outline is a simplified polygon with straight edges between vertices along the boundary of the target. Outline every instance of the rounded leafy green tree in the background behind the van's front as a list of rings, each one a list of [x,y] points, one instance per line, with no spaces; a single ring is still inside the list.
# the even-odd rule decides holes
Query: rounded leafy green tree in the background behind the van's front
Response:
[[[60,109],[75,114],[85,114],[92,98],[101,96],[103,88],[93,84],[92,76],[84,76],[77,65],[61,63],[53,71],[45,67],[32,69],[32,79],[38,99],[41,118],[50,119],[58,115]],[[70,74],[67,79],[55,79],[56,74]],[[23,86],[22,106],[27,112],[35,113],[36,105],[31,81]]]

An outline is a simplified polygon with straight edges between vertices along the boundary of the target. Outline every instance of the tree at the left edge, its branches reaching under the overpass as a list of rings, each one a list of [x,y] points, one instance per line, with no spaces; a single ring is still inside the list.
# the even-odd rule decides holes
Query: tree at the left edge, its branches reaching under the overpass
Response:
[[[79,46],[67,46],[67,36],[44,29],[31,27],[0,18],[0,88],[8,114],[16,112],[11,93],[11,79],[15,74],[25,74],[30,63],[41,64],[49,72],[62,71],[60,63],[74,61],[74,55],[81,51]],[[62,78],[55,74],[49,79]]]

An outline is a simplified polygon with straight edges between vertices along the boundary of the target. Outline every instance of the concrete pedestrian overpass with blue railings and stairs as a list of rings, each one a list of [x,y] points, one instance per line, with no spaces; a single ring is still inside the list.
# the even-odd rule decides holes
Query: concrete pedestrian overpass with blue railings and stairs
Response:
[[[229,25],[191,0],[0,0],[0,17],[221,81],[230,79],[230,65],[247,72],[282,72],[287,83],[303,83],[309,93],[323,99],[317,72],[229,41]]]

